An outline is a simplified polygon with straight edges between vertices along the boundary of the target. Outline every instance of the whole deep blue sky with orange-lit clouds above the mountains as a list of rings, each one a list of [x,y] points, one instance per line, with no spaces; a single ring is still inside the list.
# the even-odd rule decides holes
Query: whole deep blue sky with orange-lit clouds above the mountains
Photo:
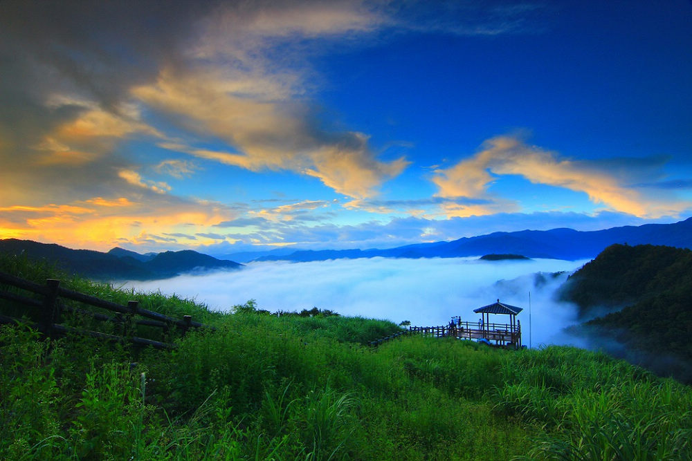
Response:
[[[370,248],[692,216],[692,3],[0,2],[0,238]]]

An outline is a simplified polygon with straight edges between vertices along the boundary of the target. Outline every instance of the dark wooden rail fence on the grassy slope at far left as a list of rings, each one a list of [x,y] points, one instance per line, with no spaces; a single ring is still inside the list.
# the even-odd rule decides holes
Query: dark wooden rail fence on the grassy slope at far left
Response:
[[[3,285],[19,288],[19,290],[33,293],[38,295],[38,297],[30,297],[12,292]],[[158,327],[162,328],[163,332],[170,332],[172,328],[176,328],[183,335],[185,335],[185,332],[190,328],[212,328],[197,321],[192,321],[190,315],[184,315],[183,319],[174,319],[173,317],[168,317],[167,315],[152,310],[139,308],[138,301],[128,301],[127,305],[120,305],[93,297],[89,294],[68,290],[62,288],[60,286],[60,281],[55,279],[48,279],[46,280],[46,285],[39,285],[38,283],[0,272],[0,287],[0,299],[7,299],[8,301],[13,301],[24,307],[33,309],[35,314],[33,317],[38,321],[37,323],[30,323],[30,326],[50,337],[73,333],[111,341],[129,341],[133,344],[153,346],[158,349],[173,349],[176,347],[174,344],[133,336],[134,326]],[[109,315],[101,312],[94,312],[89,309],[78,308],[64,303],[63,300],[77,301],[81,305],[100,308],[109,312],[114,312],[114,314]],[[82,314],[98,321],[115,323],[116,329],[119,330],[120,334],[111,335],[104,332],[62,325],[60,322],[64,312]],[[21,320],[15,317],[0,315],[0,323],[19,322],[21,322]]]

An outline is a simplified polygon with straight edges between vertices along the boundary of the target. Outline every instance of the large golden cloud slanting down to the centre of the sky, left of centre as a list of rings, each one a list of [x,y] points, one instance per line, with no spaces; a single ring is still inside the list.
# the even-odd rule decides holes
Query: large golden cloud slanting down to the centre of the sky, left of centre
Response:
[[[217,135],[239,153],[196,149],[179,142],[161,142],[161,147],[251,171],[296,171],[353,198],[374,195],[383,181],[399,175],[409,164],[404,158],[376,160],[362,133],[316,135],[298,106],[289,100],[260,97],[274,94],[278,84],[255,87],[255,97],[228,93],[229,86],[218,75],[178,76],[165,70],[156,84],[134,88],[133,93],[146,104],[183,115],[188,128]]]

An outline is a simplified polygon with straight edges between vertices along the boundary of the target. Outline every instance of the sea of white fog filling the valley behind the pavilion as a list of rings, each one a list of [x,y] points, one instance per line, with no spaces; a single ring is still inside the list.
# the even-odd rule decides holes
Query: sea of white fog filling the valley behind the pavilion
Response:
[[[477,321],[475,308],[500,301],[524,308],[518,315],[524,344],[574,344],[564,335],[576,308],[556,290],[588,260],[482,261],[477,258],[362,258],[310,263],[248,263],[242,270],[131,281],[143,292],[177,294],[227,311],[254,299],[271,312],[317,307],[343,315],[445,325],[450,317]],[[562,272],[555,275],[556,272]],[[530,304],[529,304],[530,292]],[[507,321],[498,316],[498,323]]]

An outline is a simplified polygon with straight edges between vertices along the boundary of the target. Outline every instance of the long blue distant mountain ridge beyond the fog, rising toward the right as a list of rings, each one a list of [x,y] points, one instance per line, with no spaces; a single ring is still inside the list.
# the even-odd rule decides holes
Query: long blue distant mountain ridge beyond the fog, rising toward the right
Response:
[[[493,232],[450,242],[417,243],[388,250],[298,250],[255,261],[325,261],[339,258],[456,258],[484,254],[520,254],[527,258],[574,261],[594,258],[609,245],[667,245],[692,248],[692,218],[673,224],[612,227],[599,231],[558,228],[547,231]]]

